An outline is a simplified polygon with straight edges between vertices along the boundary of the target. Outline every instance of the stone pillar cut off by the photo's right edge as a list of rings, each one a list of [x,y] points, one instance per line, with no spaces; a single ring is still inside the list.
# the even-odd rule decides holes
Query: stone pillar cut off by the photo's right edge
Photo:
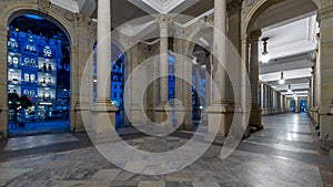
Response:
[[[333,148],[333,4],[322,1],[320,18],[320,139],[321,147]]]

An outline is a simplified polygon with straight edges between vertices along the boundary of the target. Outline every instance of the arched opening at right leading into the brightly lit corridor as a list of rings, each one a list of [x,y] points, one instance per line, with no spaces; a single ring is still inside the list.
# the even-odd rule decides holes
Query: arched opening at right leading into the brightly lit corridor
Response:
[[[244,56],[249,56],[250,66],[255,59],[259,61],[258,75],[263,83],[262,91],[259,92],[259,101],[262,98],[276,103],[272,106],[264,105],[262,110],[268,112],[263,114],[289,111],[299,113],[301,101],[297,97],[313,96],[310,91],[312,71],[316,61],[313,51],[317,46],[317,6],[312,0],[285,0],[279,3],[273,0],[255,1],[243,13],[242,35],[261,31],[256,35],[259,38],[253,39],[249,43],[250,46],[246,44],[243,51]],[[297,11],[293,11],[295,9]],[[252,37],[255,38],[254,34]],[[253,44],[258,45],[256,51],[252,51]],[[252,58],[254,52],[258,56]],[[270,56],[266,61],[265,55]],[[300,63],[301,61],[304,63]],[[269,90],[276,91],[276,96],[272,97]],[[284,101],[287,101],[290,108],[286,108]]]

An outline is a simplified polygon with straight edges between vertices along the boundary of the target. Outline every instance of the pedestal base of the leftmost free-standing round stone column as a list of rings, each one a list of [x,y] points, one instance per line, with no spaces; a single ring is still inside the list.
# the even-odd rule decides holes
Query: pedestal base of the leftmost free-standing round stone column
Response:
[[[110,100],[97,100],[92,108],[90,138],[94,144],[112,143],[118,138],[115,133],[115,112],[118,108]]]

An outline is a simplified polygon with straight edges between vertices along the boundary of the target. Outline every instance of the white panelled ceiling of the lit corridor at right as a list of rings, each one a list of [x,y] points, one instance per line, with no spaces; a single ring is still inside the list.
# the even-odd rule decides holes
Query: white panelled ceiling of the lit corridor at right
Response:
[[[260,80],[276,91],[286,95],[289,85],[297,96],[307,96],[311,75],[315,64],[316,33],[319,25],[316,15],[307,15],[300,20],[263,29],[262,38],[268,40],[268,51],[271,56],[269,63],[260,63]],[[262,58],[263,42],[259,43],[260,59]],[[285,84],[280,85],[281,72]]]

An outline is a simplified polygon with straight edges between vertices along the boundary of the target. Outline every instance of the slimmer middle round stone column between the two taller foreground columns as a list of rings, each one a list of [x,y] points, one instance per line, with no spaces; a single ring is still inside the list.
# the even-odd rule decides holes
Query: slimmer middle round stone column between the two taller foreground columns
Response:
[[[168,30],[170,18],[162,14],[159,18],[160,25],[160,104],[155,107],[155,122],[162,123],[167,120],[167,107],[169,105],[169,41]]]

